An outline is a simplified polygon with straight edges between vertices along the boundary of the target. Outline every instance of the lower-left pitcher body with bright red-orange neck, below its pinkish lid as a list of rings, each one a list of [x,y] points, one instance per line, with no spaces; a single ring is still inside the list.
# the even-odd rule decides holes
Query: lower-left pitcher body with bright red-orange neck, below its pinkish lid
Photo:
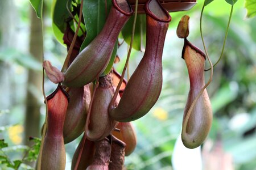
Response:
[[[65,169],[65,147],[63,125],[68,107],[68,94],[59,84],[57,89],[47,97],[48,122],[44,138],[41,169]]]

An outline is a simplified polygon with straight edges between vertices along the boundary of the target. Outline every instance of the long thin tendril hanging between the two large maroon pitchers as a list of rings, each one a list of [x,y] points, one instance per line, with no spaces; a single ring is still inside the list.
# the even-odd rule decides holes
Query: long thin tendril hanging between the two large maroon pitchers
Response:
[[[126,62],[125,62],[125,66],[123,67],[123,71],[122,71],[122,75],[121,78],[119,80],[119,83],[117,85],[117,88],[115,90],[114,96],[112,98],[112,101],[110,102],[110,106],[114,106],[115,100],[117,99],[117,95],[118,92],[120,90],[120,87],[122,85],[123,82],[123,77],[125,76],[125,71],[127,69],[127,65],[129,63],[129,59],[130,59],[130,55],[131,55],[131,48],[133,47],[133,39],[134,39],[134,33],[135,33],[135,25],[136,25],[136,20],[137,20],[137,11],[138,11],[138,0],[136,0],[135,2],[135,15],[134,15],[134,21],[133,21],[133,31],[131,33],[131,41],[130,41],[130,48],[129,48],[129,52],[127,54],[127,58],[126,58]]]

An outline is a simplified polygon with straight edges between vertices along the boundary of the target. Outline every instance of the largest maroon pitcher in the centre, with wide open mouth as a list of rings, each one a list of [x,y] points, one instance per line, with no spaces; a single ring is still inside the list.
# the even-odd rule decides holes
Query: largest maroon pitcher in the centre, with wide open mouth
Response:
[[[162,89],[162,54],[171,16],[156,0],[145,6],[147,14],[146,51],[117,108],[109,107],[110,116],[120,122],[144,116],[158,100]]]

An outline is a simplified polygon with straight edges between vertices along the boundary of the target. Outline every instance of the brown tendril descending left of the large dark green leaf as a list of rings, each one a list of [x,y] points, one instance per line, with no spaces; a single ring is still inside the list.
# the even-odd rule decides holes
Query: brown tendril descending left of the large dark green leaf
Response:
[[[84,0],[81,0],[81,6],[80,6],[80,12],[79,12],[79,23],[77,24],[77,28],[76,28],[76,33],[73,37],[73,40],[71,42],[71,45],[69,47],[69,50],[68,50],[68,55],[65,59],[65,62],[63,64],[63,67],[61,69],[61,72],[64,72],[65,70],[68,69],[68,62],[69,62],[69,59],[71,57],[71,53],[72,53],[72,50],[73,50],[73,47],[75,45],[75,42],[76,42],[76,37],[77,37],[77,34],[79,32],[79,28],[80,28],[80,24],[81,24],[81,19],[82,19],[82,6],[83,6],[83,3],[84,3]]]

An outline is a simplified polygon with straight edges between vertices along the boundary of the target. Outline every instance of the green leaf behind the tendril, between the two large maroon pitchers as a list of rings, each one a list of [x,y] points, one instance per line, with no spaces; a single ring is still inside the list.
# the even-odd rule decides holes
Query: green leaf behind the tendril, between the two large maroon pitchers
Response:
[[[131,41],[131,32],[133,30],[134,16],[127,21],[125,27],[122,29],[122,36],[127,44]],[[142,50],[146,44],[146,15],[138,15],[135,25],[133,48]]]

